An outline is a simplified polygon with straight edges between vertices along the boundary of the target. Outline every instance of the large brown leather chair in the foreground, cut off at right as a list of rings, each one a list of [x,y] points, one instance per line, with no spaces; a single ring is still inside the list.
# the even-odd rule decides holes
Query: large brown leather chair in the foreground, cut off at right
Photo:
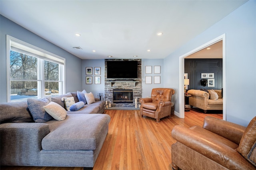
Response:
[[[174,170],[256,170],[256,117],[248,127],[205,117],[203,127],[172,130]]]

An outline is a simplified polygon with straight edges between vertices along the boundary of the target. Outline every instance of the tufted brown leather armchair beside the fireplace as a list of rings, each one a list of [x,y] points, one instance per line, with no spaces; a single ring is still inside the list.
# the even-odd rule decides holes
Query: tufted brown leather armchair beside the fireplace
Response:
[[[172,88],[153,88],[151,98],[140,98],[140,116],[152,117],[160,122],[160,119],[171,114]]]

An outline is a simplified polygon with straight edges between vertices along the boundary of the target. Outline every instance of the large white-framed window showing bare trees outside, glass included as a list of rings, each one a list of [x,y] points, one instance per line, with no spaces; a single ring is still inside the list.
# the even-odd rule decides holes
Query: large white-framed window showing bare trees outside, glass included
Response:
[[[7,35],[8,102],[64,94],[65,59]]]

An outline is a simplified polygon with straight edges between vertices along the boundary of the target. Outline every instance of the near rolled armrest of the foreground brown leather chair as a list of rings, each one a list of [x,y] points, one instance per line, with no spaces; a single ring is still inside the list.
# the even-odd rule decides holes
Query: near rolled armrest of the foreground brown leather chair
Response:
[[[182,143],[228,169],[254,168],[254,166],[235,149],[219,143],[218,141],[208,140],[204,134],[200,134],[192,129],[176,125],[172,130],[172,137],[177,142]]]

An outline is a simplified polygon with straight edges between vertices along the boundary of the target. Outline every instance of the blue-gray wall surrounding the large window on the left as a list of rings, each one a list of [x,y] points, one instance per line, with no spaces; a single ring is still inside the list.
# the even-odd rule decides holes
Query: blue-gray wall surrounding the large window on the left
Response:
[[[66,59],[66,92],[82,88],[82,60],[0,15],[0,102],[6,102],[6,35]]]

